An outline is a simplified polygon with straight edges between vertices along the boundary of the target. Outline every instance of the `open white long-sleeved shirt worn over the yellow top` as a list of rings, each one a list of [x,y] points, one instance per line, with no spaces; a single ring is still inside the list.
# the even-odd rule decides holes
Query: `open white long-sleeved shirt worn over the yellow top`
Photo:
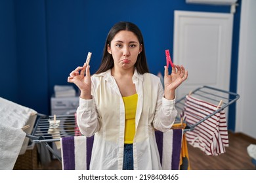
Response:
[[[177,110],[175,100],[163,97],[158,76],[133,75],[138,104],[133,141],[134,169],[161,169],[154,128],[167,131]],[[95,134],[90,169],[122,169],[125,108],[119,88],[110,70],[92,76],[93,99],[79,99],[77,125],[87,137]]]

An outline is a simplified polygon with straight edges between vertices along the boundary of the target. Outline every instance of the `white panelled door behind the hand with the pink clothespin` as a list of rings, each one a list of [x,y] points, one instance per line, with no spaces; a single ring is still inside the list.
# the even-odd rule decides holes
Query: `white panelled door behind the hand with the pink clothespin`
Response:
[[[232,25],[233,14],[175,11],[173,62],[188,70],[177,99],[205,85],[229,91]]]

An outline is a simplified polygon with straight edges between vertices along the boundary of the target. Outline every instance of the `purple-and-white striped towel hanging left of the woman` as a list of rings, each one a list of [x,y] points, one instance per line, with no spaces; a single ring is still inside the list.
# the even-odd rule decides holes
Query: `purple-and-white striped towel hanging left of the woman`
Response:
[[[63,170],[89,170],[93,137],[62,137],[61,157]]]

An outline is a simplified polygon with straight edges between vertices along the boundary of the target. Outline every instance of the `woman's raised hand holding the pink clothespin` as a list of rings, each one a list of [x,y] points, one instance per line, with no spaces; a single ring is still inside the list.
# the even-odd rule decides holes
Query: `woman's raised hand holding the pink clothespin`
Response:
[[[173,64],[171,75],[169,75],[168,68],[165,66],[164,97],[169,100],[174,99],[176,88],[178,88],[186,78],[188,78],[188,71],[186,71],[182,65]]]

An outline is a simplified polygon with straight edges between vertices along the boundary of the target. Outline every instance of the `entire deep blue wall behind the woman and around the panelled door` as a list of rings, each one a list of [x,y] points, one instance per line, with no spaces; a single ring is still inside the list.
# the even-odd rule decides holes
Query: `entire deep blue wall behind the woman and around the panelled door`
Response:
[[[70,71],[83,65],[88,52],[93,52],[91,72],[96,71],[106,35],[116,22],[140,27],[150,72],[157,74],[163,71],[164,50],[173,50],[174,10],[230,12],[229,6],[192,5],[185,0],[0,2],[0,96],[43,114],[50,114],[53,86],[68,85]],[[240,7],[234,16],[232,92],[236,92],[239,23]],[[234,118],[229,125],[234,128]]]

